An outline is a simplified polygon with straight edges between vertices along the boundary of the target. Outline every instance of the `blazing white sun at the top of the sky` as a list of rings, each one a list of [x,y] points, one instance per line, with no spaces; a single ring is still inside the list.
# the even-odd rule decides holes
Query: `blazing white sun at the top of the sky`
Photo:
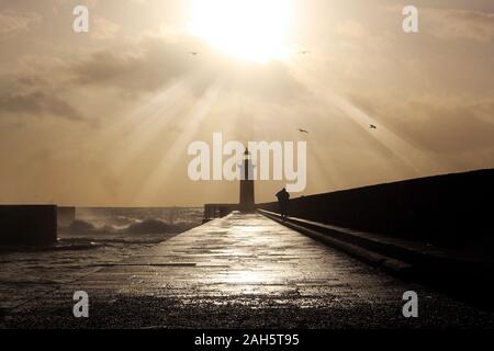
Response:
[[[190,0],[189,31],[243,60],[284,59],[293,0]]]

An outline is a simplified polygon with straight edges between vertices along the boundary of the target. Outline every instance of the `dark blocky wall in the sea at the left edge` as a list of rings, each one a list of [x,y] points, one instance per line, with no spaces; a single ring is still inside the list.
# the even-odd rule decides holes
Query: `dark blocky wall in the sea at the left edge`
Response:
[[[37,246],[56,240],[56,205],[0,205],[0,245]]]

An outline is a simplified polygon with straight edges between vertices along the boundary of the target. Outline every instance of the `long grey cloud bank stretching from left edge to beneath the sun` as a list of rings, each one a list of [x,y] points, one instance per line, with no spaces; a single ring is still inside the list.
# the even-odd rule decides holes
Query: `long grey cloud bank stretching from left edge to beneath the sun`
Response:
[[[190,47],[201,55],[190,55]],[[115,47],[77,49],[56,58],[31,55],[19,64],[18,71],[0,75],[0,115],[9,121],[53,116],[97,126],[96,117],[89,116],[114,112],[111,106],[122,97],[125,103],[138,103],[143,95],[178,79],[192,98],[203,95],[218,82],[226,93],[233,91],[282,106],[306,94],[304,86],[282,63],[234,61],[188,38],[171,42],[145,36]],[[99,106],[98,113],[88,106],[88,99]]]

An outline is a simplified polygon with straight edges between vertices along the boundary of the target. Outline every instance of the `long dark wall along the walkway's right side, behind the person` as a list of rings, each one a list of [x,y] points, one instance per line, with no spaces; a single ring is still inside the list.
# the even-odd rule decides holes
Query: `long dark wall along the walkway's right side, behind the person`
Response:
[[[276,202],[258,207],[279,213]],[[493,244],[494,170],[293,199],[290,215],[448,247]]]

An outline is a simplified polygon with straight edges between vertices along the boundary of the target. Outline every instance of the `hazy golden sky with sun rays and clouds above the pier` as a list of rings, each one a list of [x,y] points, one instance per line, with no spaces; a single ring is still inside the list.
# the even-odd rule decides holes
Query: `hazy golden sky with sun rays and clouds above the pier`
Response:
[[[0,203],[235,203],[188,177],[213,133],[306,141],[292,196],[492,168],[494,2],[0,0]]]

